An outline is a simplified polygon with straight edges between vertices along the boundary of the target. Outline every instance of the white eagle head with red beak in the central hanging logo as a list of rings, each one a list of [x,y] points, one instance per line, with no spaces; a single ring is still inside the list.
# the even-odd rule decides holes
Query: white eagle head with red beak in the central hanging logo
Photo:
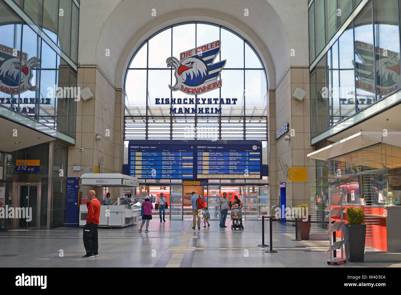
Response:
[[[200,85],[207,77],[206,64],[196,57],[183,59],[177,72],[188,86]]]

